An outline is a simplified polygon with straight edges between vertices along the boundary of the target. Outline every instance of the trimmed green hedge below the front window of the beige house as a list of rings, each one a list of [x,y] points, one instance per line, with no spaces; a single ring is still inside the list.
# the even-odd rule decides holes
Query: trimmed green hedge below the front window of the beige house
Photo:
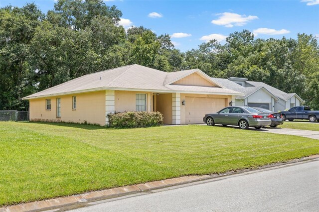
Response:
[[[109,126],[115,128],[139,128],[160,126],[163,115],[160,112],[126,111],[108,114]]]

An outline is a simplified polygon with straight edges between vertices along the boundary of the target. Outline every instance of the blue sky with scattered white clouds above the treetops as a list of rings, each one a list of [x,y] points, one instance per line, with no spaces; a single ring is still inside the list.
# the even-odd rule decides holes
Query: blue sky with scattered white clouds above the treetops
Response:
[[[54,0],[0,0],[0,6],[35,2],[43,12]],[[215,38],[248,29],[260,38],[319,36],[319,0],[106,0],[122,12],[121,24],[170,34],[175,48],[187,51]]]

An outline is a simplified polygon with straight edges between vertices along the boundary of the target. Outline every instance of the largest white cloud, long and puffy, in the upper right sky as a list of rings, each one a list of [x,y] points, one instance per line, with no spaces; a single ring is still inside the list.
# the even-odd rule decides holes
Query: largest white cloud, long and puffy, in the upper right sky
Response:
[[[219,15],[219,18],[212,20],[211,22],[216,25],[223,25],[225,27],[243,26],[250,20],[258,19],[256,15],[240,15],[232,12],[223,12]]]

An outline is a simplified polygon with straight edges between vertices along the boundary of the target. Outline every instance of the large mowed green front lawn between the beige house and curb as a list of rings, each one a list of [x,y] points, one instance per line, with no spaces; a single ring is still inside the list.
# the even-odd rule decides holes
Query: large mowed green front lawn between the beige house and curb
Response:
[[[0,122],[0,206],[318,153],[318,140],[231,127]]]

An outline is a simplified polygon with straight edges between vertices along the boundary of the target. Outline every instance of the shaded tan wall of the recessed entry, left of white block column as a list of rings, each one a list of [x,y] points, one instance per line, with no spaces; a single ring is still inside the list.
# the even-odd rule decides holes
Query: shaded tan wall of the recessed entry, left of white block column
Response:
[[[172,124],[172,94],[160,94],[156,102],[157,111],[164,116],[164,124]]]

